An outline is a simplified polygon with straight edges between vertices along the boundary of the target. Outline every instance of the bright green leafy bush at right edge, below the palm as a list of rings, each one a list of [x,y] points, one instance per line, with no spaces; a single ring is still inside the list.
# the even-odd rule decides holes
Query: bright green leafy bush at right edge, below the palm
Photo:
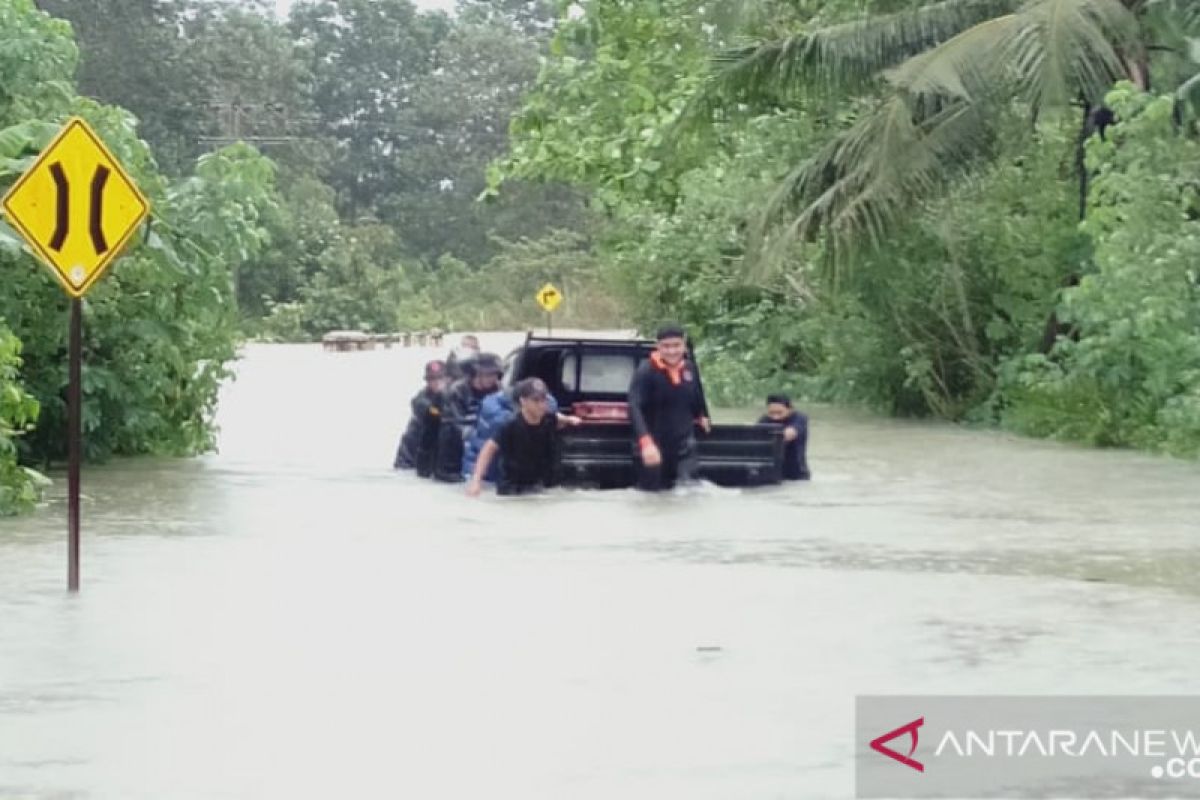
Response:
[[[1014,427],[1100,445],[1200,453],[1200,143],[1172,125],[1171,97],[1128,84],[1122,122],[1088,143],[1085,230],[1096,270],[1067,291],[1075,336],[1008,371]]]

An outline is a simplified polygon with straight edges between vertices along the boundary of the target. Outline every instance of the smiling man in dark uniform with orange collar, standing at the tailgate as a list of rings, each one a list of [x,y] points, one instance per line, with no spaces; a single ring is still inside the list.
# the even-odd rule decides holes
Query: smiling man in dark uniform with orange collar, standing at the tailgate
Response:
[[[708,403],[678,325],[659,329],[658,348],[629,385],[637,488],[660,492],[696,476],[696,434],[710,428]]]

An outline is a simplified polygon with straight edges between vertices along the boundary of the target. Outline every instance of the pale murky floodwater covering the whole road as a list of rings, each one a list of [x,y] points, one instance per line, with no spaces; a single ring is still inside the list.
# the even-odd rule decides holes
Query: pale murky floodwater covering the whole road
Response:
[[[390,470],[439,355],[250,347],[77,597],[0,521],[0,799],[847,798],[856,694],[1200,691],[1200,465],[815,409],[810,485],[468,500]]]

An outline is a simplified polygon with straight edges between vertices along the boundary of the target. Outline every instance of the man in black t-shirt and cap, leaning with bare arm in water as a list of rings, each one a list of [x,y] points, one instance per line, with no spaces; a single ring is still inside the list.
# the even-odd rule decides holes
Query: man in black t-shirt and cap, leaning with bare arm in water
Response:
[[[467,494],[479,497],[484,476],[497,453],[500,457],[497,494],[527,494],[558,483],[558,426],[578,425],[578,417],[559,419],[550,413],[550,390],[538,378],[527,378],[512,390],[517,413],[484,445]]]

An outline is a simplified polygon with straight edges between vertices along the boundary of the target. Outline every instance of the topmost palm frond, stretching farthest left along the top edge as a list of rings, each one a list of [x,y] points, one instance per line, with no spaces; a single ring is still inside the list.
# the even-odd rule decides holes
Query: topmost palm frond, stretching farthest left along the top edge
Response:
[[[854,91],[876,80],[887,67],[1018,6],[1019,0],[942,0],[917,11],[734,48],[714,58],[697,110]]]

